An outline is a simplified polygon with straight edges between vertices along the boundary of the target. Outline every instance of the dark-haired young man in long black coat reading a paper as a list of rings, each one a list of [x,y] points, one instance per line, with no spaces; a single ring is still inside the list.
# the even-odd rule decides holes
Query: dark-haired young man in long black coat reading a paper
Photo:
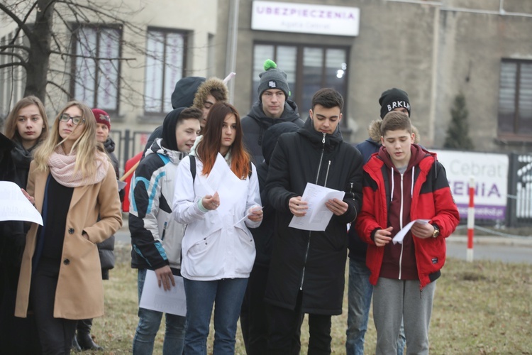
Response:
[[[270,354],[299,354],[299,332],[309,314],[309,354],[331,352],[331,315],[342,312],[348,223],[362,202],[362,155],[340,133],[343,97],[321,89],[312,98],[309,119],[296,133],[279,138],[270,159],[267,193],[277,211],[272,261],[265,294],[270,303]],[[345,191],[325,231],[289,227],[306,214],[306,184]]]

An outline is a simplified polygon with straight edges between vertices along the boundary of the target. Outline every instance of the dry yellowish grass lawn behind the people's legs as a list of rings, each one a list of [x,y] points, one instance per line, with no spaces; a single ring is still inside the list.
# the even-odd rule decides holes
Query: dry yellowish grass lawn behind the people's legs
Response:
[[[111,280],[104,282],[106,315],[94,320],[92,332],[105,354],[131,353],[138,321],[136,271],[129,268],[128,251],[118,249],[117,259],[121,262],[111,271]],[[531,278],[529,264],[449,259],[436,288],[431,354],[532,354]],[[334,354],[345,354],[346,309],[347,294],[343,315],[333,317]],[[162,353],[163,327],[154,354]],[[302,354],[308,344],[306,329],[304,324]],[[375,353],[375,339],[370,315],[366,354]],[[236,354],[245,354],[240,329]]]

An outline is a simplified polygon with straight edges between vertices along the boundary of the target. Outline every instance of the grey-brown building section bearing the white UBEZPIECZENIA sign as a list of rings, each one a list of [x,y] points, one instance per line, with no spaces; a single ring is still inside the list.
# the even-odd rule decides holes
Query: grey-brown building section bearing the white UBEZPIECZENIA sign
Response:
[[[257,2],[262,12],[282,17],[284,26],[272,21],[267,30],[254,29]],[[289,75],[301,116],[308,115],[309,95],[318,87],[333,86],[345,94],[342,128],[353,143],[367,138],[367,125],[379,118],[380,94],[399,87],[409,93],[411,118],[424,146],[443,146],[450,109],[462,92],[476,151],[530,150],[532,1],[239,3],[234,100],[244,113],[257,98],[262,63],[272,56]],[[326,33],[346,8],[360,11],[356,35],[313,33],[316,28]],[[231,6],[220,6],[216,43],[228,38],[230,12]],[[217,62],[216,72],[222,73],[224,65]]]

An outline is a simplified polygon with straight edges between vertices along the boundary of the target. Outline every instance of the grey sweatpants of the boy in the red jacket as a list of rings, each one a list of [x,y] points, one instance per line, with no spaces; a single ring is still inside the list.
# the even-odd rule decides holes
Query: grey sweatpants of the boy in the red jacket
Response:
[[[404,319],[406,354],[428,354],[428,325],[436,281],[419,291],[419,280],[379,278],[373,288],[377,355],[397,355],[397,336]]]

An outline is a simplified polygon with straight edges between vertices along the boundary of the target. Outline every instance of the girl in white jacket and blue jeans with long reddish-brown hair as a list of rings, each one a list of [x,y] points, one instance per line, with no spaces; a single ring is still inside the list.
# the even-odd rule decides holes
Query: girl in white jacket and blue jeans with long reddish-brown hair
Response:
[[[216,302],[214,354],[234,354],[236,322],[255,260],[248,227],[262,221],[257,171],[231,104],[214,104],[198,141],[177,167],[172,209],[177,222],[187,224],[181,265],[187,295],[184,352],[206,354]]]

